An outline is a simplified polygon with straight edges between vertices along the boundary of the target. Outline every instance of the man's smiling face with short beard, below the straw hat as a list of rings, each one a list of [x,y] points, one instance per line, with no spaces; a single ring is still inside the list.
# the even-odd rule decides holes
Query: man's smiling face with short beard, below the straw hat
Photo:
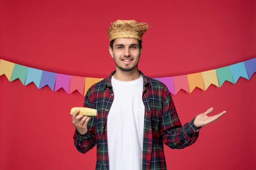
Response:
[[[113,44],[113,50],[109,46],[110,55],[114,58],[117,69],[132,71],[138,68],[142,47],[139,41],[132,38],[117,38]]]

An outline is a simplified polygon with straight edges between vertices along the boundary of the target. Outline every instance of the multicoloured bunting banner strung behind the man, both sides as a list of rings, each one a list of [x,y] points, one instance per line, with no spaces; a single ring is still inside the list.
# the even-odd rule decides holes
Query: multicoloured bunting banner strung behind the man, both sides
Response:
[[[173,95],[176,95],[181,89],[187,93],[192,93],[196,87],[206,91],[211,84],[220,88],[225,81],[236,84],[240,77],[249,80],[255,72],[256,57],[244,62],[200,73],[154,79],[166,84],[169,91]],[[38,89],[47,85],[53,92],[63,88],[67,94],[78,91],[83,96],[85,96],[90,86],[103,79],[53,73],[22,66],[3,59],[0,59],[0,76],[1,75],[5,75],[9,82],[20,79],[20,82],[24,86],[33,82]]]

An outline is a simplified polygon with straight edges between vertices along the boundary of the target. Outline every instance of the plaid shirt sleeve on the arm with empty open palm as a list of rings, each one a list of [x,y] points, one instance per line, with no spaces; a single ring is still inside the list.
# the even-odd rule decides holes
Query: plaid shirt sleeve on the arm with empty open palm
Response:
[[[198,139],[199,130],[202,127],[196,127],[195,117],[184,124],[180,123],[177,115],[171,93],[166,88],[166,96],[162,106],[162,119],[160,124],[160,134],[164,144],[172,149],[183,149],[190,146]]]

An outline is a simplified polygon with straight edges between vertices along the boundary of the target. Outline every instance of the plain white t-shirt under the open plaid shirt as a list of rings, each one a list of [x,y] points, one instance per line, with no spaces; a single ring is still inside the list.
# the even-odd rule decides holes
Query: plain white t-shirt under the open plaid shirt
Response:
[[[141,170],[145,106],[143,78],[122,82],[112,76],[114,101],[107,118],[110,170]]]

